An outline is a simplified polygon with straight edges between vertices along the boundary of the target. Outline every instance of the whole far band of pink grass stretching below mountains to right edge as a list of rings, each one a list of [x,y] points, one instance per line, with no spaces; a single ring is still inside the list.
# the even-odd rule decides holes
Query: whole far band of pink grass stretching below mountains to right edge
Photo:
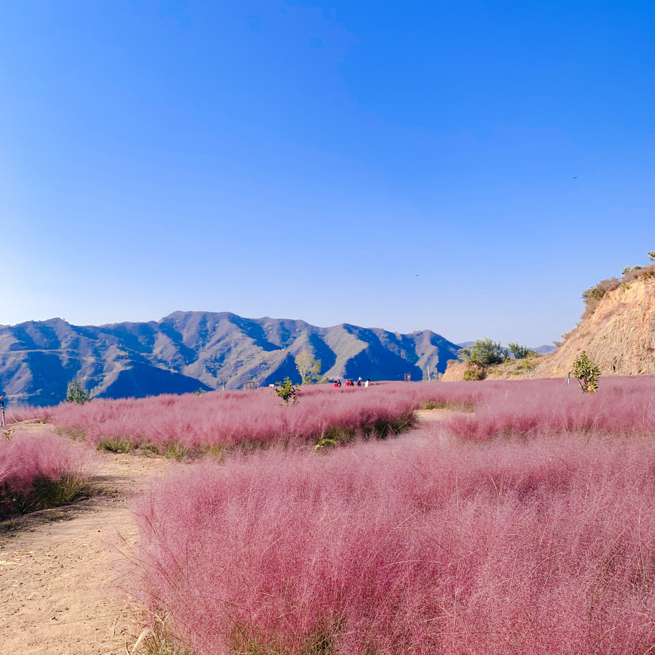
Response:
[[[183,443],[235,445],[308,443],[331,430],[367,432],[385,424],[397,430],[422,402],[472,403],[472,415],[449,426],[464,440],[497,435],[529,438],[553,432],[650,434],[655,432],[655,377],[601,379],[596,394],[582,394],[561,380],[463,383],[383,383],[371,388],[305,387],[299,402],[279,407],[269,389],[212,392],[204,396],[155,396],[138,400],[93,400],[85,405],[14,412],[18,419],[53,417],[65,431],[97,443],[122,437],[137,445]]]

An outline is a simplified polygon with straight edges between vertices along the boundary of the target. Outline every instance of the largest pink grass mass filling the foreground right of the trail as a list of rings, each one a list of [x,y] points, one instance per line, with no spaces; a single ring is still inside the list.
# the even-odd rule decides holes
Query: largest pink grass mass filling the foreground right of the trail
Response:
[[[272,449],[136,514],[145,598],[199,655],[655,649],[650,441]]]

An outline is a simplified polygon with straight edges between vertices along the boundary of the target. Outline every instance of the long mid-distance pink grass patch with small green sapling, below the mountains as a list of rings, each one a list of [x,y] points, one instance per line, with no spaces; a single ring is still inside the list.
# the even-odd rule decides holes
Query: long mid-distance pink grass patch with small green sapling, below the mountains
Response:
[[[406,385],[405,385],[406,386]],[[67,432],[84,432],[92,443],[121,437],[136,445],[182,443],[237,445],[307,443],[329,432],[388,432],[413,421],[418,389],[403,385],[373,388],[303,388],[295,405],[280,406],[271,390],[212,392],[202,396],[154,396],[62,403],[53,422]]]

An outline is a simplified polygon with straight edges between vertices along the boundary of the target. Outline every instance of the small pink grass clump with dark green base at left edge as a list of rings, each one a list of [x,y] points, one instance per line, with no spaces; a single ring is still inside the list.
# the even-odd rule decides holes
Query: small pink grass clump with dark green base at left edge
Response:
[[[88,451],[53,434],[1,439],[0,517],[65,504],[83,491],[91,474]]]

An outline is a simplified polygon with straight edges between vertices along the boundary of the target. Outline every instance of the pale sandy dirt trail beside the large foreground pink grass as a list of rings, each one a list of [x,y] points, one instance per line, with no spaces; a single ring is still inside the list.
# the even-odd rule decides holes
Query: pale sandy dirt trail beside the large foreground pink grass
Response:
[[[43,426],[40,426],[43,429]],[[124,600],[115,563],[136,540],[126,501],[167,460],[99,453],[102,493],[45,510],[0,533],[0,653],[125,655],[141,626]]]

